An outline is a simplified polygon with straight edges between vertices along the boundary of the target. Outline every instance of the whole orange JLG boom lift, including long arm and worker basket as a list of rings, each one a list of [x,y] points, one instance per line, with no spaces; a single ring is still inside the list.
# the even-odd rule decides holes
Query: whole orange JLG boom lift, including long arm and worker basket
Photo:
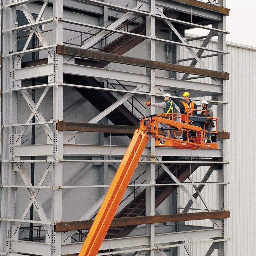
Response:
[[[202,117],[201,115],[196,116],[194,121],[191,116],[186,115],[187,123],[180,123],[177,121],[180,116],[180,114],[173,113],[169,114],[167,118],[164,118],[161,114],[141,118],[139,128],[136,129],[133,134],[132,140],[124,154],[123,160],[116,171],[116,175],[108,189],[102,205],[100,206],[99,212],[97,213],[97,216],[78,256],[96,256],[98,253],[100,245],[107,234],[110,223],[114,218],[120,201],[124,196],[124,192],[132,178],[132,174],[139,162],[140,156],[146,147],[149,140],[149,135],[156,138],[155,144],[156,146],[160,147],[187,149],[218,148],[218,144],[216,142],[205,142],[205,117],[200,122],[200,117]],[[216,122],[217,127],[217,118],[212,119]],[[193,125],[193,122],[198,124],[198,120],[199,124],[201,123],[200,126]],[[159,128],[158,125],[160,123],[168,124],[168,128]],[[187,131],[188,141],[171,139],[159,135],[159,131],[164,129],[169,130],[168,133],[173,132],[173,134],[175,134],[175,131]],[[190,131],[193,131],[193,133]],[[190,134],[193,134],[191,137],[189,137],[189,132]]]

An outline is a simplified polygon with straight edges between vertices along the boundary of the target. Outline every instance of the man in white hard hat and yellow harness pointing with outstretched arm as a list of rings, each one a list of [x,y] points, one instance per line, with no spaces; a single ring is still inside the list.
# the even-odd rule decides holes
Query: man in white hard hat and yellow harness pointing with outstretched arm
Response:
[[[172,114],[175,110],[175,105],[171,100],[171,94],[170,93],[165,93],[164,96],[164,102],[145,102],[146,106],[153,106],[156,108],[164,108],[163,110],[163,116],[165,118],[169,118],[169,113]],[[170,116],[170,118],[172,119],[172,116]],[[165,128],[168,128],[168,124],[164,124]],[[168,130],[165,130],[166,132],[166,137],[168,137]],[[170,138],[173,138],[173,134],[172,131],[170,131]]]

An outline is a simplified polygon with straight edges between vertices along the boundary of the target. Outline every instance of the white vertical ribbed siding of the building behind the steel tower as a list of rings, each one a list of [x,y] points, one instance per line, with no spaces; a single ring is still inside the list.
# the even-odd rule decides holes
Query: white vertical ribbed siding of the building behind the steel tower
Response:
[[[195,41],[193,41],[195,44]],[[197,42],[196,45],[200,45]],[[215,42],[210,42],[209,48],[216,48]],[[253,160],[256,145],[255,139],[255,108],[254,97],[256,95],[256,48],[246,47],[236,44],[228,44],[227,51],[227,72],[230,73],[230,80],[227,81],[227,99],[230,105],[227,106],[227,130],[230,132],[228,140],[227,159],[228,164],[228,210],[231,218],[228,219],[228,255],[254,255],[254,244],[256,242],[255,230],[255,211],[256,171],[254,170]],[[204,54],[212,54],[205,52]],[[187,49],[180,47],[180,58],[192,57]],[[209,69],[216,70],[217,57],[203,59]],[[184,65],[189,65],[185,62]],[[200,67],[198,64],[196,67]],[[196,80],[193,80],[196,81]],[[208,78],[197,79],[200,82],[210,82]],[[188,88],[189,89],[189,88]],[[192,96],[193,97],[193,96]],[[199,181],[207,167],[201,167],[193,174],[193,179]],[[209,181],[217,181],[217,172],[213,172]],[[217,207],[217,187],[207,186],[202,193],[212,209]],[[189,189],[192,192],[191,188]],[[188,197],[180,192],[180,205],[185,205]],[[200,200],[198,200],[200,202]],[[192,206],[195,208],[195,204]],[[208,222],[209,223],[209,222]],[[191,222],[189,223],[191,224]],[[193,225],[207,226],[207,221],[197,221]],[[191,253],[203,255],[203,248],[207,245],[197,245],[191,248]],[[181,255],[187,255],[181,250]],[[183,253],[184,252],[184,253]],[[212,255],[218,255],[215,250]]]

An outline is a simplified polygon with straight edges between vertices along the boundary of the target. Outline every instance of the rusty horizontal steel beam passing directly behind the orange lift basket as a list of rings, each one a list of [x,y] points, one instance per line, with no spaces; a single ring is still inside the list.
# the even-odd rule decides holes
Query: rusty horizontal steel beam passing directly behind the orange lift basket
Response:
[[[105,132],[106,135],[132,135],[137,129],[133,125],[115,125],[115,124],[88,124],[76,122],[59,121],[56,124],[59,131],[79,131],[79,132]],[[165,131],[159,131],[160,135],[165,135]],[[181,132],[175,132],[176,136],[181,136]],[[219,132],[217,134],[219,139],[229,139],[229,132]]]

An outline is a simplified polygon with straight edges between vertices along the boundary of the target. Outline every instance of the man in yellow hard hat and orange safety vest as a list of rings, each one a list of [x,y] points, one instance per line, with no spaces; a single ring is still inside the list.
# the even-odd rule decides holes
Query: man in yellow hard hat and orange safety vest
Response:
[[[190,98],[190,93],[184,92],[183,93],[184,101],[182,101],[180,103],[180,114],[184,114],[184,115],[197,114],[197,110],[192,110],[192,109],[197,109],[197,105],[194,101],[190,100],[189,98]],[[181,121],[182,121],[182,123],[186,123],[186,116],[181,116]],[[182,132],[182,139],[187,140],[187,132],[186,131]]]

